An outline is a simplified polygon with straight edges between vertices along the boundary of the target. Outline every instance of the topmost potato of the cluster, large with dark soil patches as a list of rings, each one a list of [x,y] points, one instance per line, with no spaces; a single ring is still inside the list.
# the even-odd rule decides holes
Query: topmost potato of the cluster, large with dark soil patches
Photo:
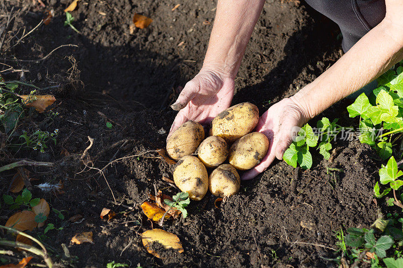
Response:
[[[219,113],[212,122],[213,136],[232,143],[251,132],[259,120],[259,110],[251,103],[240,103]]]

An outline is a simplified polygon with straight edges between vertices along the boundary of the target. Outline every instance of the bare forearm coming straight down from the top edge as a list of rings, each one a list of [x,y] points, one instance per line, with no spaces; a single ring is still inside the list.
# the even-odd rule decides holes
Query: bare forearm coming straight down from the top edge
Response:
[[[235,77],[264,0],[219,0],[204,67]]]

